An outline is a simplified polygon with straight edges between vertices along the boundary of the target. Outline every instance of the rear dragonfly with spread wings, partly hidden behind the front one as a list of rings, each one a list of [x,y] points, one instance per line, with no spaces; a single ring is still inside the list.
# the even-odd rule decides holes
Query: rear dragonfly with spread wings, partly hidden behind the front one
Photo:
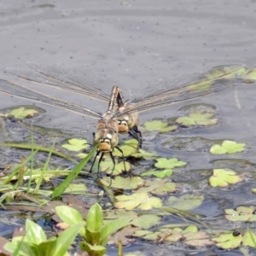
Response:
[[[109,102],[111,98],[109,92],[116,85],[112,80],[95,79],[87,74],[59,65],[36,62],[26,62],[26,64],[30,69],[7,68],[7,71],[21,79],[72,91],[81,96],[93,97],[103,102]],[[119,133],[129,133],[135,137],[141,148],[143,139],[141,131],[138,130],[140,112],[224,90],[227,85],[234,83],[234,76],[232,78],[232,75],[239,73],[242,68],[241,65],[219,66],[214,67],[208,73],[195,73],[177,80],[167,79],[163,83],[147,86],[141,90],[141,93],[137,91],[137,96],[128,101],[124,99],[123,90],[119,90],[116,98],[117,112],[115,113],[119,124]],[[68,105],[66,109],[71,110]],[[76,112],[75,109],[74,112]],[[90,115],[90,117],[94,116]]]

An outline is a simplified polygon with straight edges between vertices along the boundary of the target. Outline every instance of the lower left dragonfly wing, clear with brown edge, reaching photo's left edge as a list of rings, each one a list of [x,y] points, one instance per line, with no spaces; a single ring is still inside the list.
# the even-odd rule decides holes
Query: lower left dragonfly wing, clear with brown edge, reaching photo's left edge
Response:
[[[102,117],[102,113],[97,113],[90,108],[85,108],[84,106],[76,103],[62,101],[59,98],[48,96],[42,92],[26,88],[21,84],[15,84],[7,80],[0,80],[0,91],[3,91],[9,95],[32,100],[34,102],[40,102],[53,107],[63,108],[74,113],[89,116],[90,118],[99,119]]]

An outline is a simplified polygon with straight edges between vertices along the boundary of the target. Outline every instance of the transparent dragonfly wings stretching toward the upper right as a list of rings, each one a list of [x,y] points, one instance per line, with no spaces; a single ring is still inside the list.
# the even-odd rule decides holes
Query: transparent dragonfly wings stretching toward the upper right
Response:
[[[229,85],[235,84],[238,81],[235,74],[239,74],[243,68],[241,66],[230,66],[229,68],[215,67],[204,75],[197,74],[197,78],[195,75],[189,76],[190,79],[185,79],[185,82],[184,79],[181,79],[180,83],[172,83],[172,79],[167,80],[165,83],[161,83],[160,86],[154,85],[154,88],[149,88],[149,94],[147,96],[137,97],[131,102],[132,107],[129,110],[116,113],[115,117],[118,118],[124,113],[143,112],[152,108],[162,108],[167,105],[189,101],[224,90]]]

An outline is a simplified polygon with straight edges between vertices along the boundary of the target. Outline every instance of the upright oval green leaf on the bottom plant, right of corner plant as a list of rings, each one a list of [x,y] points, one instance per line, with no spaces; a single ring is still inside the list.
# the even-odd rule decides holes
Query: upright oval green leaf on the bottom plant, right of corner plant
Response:
[[[90,210],[86,217],[87,228],[91,232],[97,232],[102,230],[103,213],[102,207],[99,204],[94,204],[90,207]]]

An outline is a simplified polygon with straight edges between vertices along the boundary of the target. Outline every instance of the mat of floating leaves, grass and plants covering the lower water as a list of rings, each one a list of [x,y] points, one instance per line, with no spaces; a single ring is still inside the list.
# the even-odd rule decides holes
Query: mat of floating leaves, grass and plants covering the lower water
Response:
[[[254,69],[244,68],[238,80],[253,83],[254,73]],[[175,244],[177,252],[189,253],[218,247],[238,248],[247,255],[249,248],[255,248],[256,208],[252,199],[256,189],[255,185],[243,185],[248,180],[255,182],[256,163],[241,159],[250,150],[246,143],[236,142],[231,136],[214,141],[178,136],[185,129],[218,125],[221,117],[213,106],[189,105],[180,109],[183,116],[145,122],[143,134],[153,137],[153,143],[143,142],[143,148],[139,148],[136,139],[123,140],[119,148],[125,167],[122,154],[115,150],[114,170],[107,154],[101,165],[97,157],[91,173],[89,161],[97,145],[92,148],[84,138],[23,121],[37,118],[43,113],[40,109],[26,106],[2,113],[2,137],[12,137],[4,123],[14,122],[22,127],[27,143],[9,139],[0,143],[2,151],[22,154],[1,162],[1,217],[6,227],[15,228],[12,237],[10,233],[1,237],[1,255],[86,252],[98,256],[113,250],[111,245],[122,255],[123,246],[137,241]],[[49,137],[44,143],[42,134]],[[154,151],[154,137],[160,140],[160,153]],[[170,148],[176,150],[172,155]],[[192,169],[186,155],[176,157],[175,152],[187,148],[199,152],[202,158],[214,156],[212,168]],[[241,193],[245,190],[247,204]],[[230,202],[235,195],[236,202]],[[22,225],[25,229],[20,229]],[[148,255],[133,247],[127,250],[132,255]]]

